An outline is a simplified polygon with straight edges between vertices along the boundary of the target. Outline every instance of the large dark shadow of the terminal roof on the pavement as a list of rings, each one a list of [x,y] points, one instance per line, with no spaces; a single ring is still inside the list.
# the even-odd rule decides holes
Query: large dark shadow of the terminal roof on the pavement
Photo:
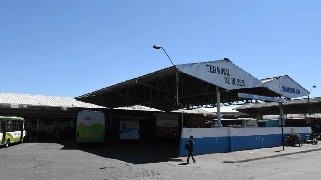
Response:
[[[61,150],[80,150],[104,158],[125,161],[131,164],[149,164],[157,162],[182,162],[178,158],[179,142],[169,141],[122,141],[108,142],[108,144],[84,144],[76,142],[60,143],[64,145]]]

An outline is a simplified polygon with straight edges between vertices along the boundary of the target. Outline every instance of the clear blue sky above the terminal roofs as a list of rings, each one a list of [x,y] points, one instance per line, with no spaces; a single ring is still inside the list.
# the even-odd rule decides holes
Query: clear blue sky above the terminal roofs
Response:
[[[321,1],[0,1],[0,92],[75,97],[229,58],[321,96]]]

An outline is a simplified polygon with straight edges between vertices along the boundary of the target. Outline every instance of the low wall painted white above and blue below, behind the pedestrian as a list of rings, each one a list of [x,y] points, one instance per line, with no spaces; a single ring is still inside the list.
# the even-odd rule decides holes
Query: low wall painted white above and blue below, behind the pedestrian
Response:
[[[302,139],[311,133],[311,127],[283,127],[288,133],[300,134]],[[242,151],[282,146],[281,127],[243,128],[182,128],[179,156],[187,156],[184,144],[194,136],[194,155]]]

